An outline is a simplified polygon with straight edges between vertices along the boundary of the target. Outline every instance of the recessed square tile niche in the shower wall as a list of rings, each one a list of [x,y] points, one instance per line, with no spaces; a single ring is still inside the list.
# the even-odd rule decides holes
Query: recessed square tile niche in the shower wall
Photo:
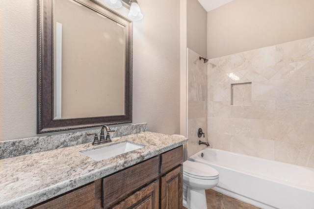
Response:
[[[250,106],[252,82],[231,84],[231,105]]]

